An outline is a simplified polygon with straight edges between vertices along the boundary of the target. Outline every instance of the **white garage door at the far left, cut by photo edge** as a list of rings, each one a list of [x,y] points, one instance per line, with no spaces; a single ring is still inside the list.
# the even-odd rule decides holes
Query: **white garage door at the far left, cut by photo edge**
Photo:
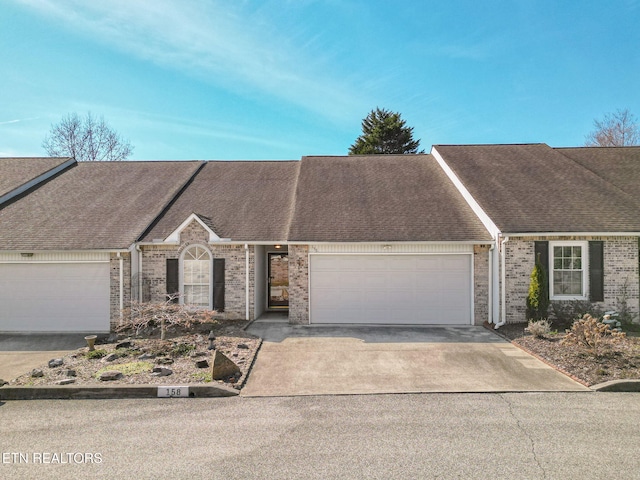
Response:
[[[108,332],[109,263],[0,264],[0,331]]]

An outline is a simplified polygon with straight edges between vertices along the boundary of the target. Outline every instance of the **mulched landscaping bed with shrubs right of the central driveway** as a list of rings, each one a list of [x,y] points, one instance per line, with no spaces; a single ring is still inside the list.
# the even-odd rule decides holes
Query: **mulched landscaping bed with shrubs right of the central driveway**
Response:
[[[582,345],[562,344],[564,330],[536,338],[526,323],[507,324],[497,332],[545,362],[591,386],[610,380],[640,379],[640,338],[604,337],[597,352]]]

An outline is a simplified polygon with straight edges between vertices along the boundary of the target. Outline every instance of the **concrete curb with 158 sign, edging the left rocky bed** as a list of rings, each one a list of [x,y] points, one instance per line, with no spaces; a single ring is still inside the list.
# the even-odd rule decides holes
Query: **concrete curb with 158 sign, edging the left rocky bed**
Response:
[[[111,398],[158,398],[159,385],[0,387],[0,400],[82,400]],[[167,382],[166,386],[173,386]],[[240,392],[225,385],[188,386],[189,397],[233,397]]]

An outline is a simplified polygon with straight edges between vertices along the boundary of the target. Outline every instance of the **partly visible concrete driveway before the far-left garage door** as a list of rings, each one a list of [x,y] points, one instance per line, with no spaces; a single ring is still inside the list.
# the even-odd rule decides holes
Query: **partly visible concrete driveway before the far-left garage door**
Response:
[[[13,380],[49,360],[86,346],[85,334],[0,333],[0,379]]]

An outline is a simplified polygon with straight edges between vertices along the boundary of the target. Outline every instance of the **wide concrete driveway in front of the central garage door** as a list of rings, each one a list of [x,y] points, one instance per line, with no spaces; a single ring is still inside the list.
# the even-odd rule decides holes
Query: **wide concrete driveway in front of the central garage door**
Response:
[[[263,338],[243,396],[589,391],[484,327],[291,326]]]

